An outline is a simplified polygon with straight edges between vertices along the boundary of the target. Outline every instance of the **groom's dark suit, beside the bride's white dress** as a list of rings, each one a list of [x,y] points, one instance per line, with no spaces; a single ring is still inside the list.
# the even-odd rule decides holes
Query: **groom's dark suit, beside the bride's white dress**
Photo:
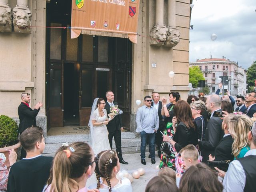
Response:
[[[114,105],[118,105],[117,102],[113,102]],[[110,113],[110,105],[106,101],[105,109],[107,110],[107,114]],[[110,122],[107,124],[108,128],[108,140],[110,147],[112,149],[112,140],[114,136],[115,144],[116,144],[116,152],[118,155],[119,160],[122,160],[122,149],[121,149],[121,130],[120,128],[122,127],[122,119],[121,115],[118,114],[117,116],[114,117]]]

